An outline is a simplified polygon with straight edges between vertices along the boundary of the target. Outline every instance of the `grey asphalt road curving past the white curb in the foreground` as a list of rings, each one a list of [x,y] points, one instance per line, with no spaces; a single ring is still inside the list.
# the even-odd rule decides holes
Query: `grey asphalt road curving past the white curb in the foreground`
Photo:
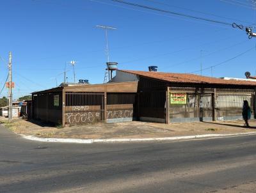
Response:
[[[256,135],[65,144],[0,125],[0,192],[256,192]]]

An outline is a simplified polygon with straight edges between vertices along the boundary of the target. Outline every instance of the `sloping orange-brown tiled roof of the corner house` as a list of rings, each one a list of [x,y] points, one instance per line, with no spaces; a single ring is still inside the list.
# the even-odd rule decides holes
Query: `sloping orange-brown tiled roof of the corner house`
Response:
[[[166,73],[166,72],[144,72],[135,70],[120,70],[122,72],[133,73],[151,79],[160,81],[177,82],[177,83],[192,83],[192,84],[229,84],[239,86],[256,86],[255,81],[238,81],[235,79],[225,80],[214,77],[205,77],[191,73]]]

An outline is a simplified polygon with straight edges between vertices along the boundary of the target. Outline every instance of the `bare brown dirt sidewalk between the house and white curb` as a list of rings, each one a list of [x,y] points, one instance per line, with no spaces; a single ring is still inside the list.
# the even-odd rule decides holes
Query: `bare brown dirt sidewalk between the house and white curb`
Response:
[[[0,123],[13,132],[36,137],[73,138],[73,139],[122,139],[148,137],[175,137],[199,134],[236,134],[256,132],[256,120],[250,120],[251,128],[244,128],[242,120],[212,121],[196,123],[147,123],[132,121],[126,123],[95,123],[73,127],[54,127],[40,122],[30,122],[16,118],[8,123],[0,118]]]

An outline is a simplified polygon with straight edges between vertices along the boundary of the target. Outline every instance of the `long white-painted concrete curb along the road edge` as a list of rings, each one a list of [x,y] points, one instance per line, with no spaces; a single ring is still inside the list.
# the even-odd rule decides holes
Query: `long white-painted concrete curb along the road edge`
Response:
[[[205,134],[205,135],[188,135],[178,137],[156,137],[156,138],[141,138],[141,139],[61,139],[61,138],[40,138],[31,135],[22,135],[25,139],[42,142],[57,142],[57,143],[122,143],[122,142],[142,142],[142,141],[173,141],[180,139],[198,139],[209,137],[235,137],[240,135],[256,134],[256,132],[238,133],[238,134]]]

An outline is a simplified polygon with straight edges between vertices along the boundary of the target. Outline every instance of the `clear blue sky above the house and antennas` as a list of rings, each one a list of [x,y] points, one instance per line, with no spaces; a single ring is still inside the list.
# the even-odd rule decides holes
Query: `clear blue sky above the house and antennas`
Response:
[[[256,23],[255,10],[247,6],[249,0],[237,0],[242,4],[233,0],[125,1],[230,24]],[[238,28],[110,0],[3,0],[0,21],[0,56],[8,61],[8,52],[13,53],[14,98],[55,87],[55,77],[58,84],[63,82],[65,62],[72,59],[77,61],[77,79],[102,83],[105,39],[104,31],[96,25],[118,28],[109,31],[109,50],[110,60],[118,62],[120,69],[147,70],[147,66],[156,65],[161,72],[191,73],[200,70],[201,60],[203,68],[207,68],[253,48],[212,68],[212,75],[244,77],[246,71],[252,75],[256,72],[256,38],[248,40]],[[1,88],[7,70],[6,63],[0,60]],[[70,64],[67,70],[68,81],[72,81]],[[211,76],[211,69],[202,75]],[[6,93],[4,89],[0,97]]]

